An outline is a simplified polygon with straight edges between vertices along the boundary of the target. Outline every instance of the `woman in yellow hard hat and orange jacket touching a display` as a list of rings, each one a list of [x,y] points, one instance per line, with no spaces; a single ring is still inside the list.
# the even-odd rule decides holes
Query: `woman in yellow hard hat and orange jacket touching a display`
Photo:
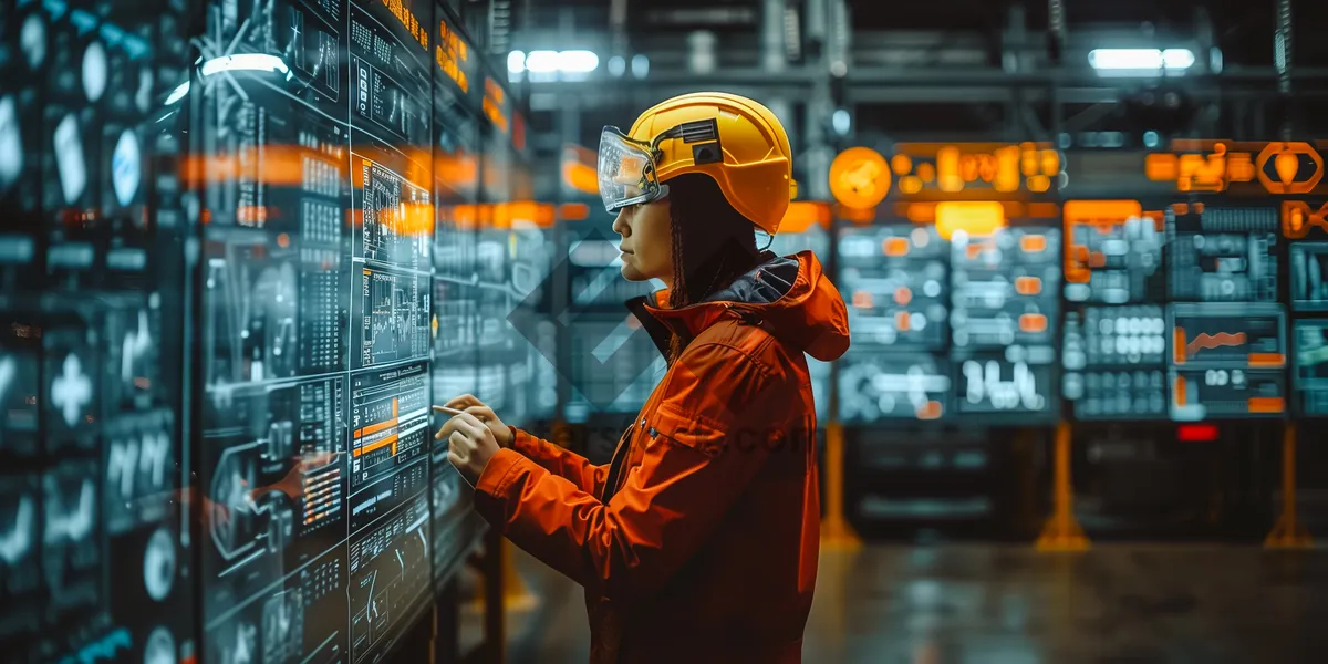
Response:
[[[622,274],[664,290],[628,309],[668,369],[612,461],[507,426],[478,398],[436,434],[475,510],[586,588],[592,663],[795,663],[821,507],[805,355],[849,347],[817,256],[757,248],[795,195],[761,104],[695,93],[606,127],[599,187]]]

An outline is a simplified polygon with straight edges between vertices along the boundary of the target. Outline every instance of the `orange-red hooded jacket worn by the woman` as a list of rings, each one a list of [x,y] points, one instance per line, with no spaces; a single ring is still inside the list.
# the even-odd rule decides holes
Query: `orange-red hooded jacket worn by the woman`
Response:
[[[661,349],[689,343],[610,465],[513,428],[479,475],[479,514],[586,587],[592,663],[801,661],[821,523],[803,353],[839,357],[849,324],[810,251],[762,258],[704,303],[628,303]]]

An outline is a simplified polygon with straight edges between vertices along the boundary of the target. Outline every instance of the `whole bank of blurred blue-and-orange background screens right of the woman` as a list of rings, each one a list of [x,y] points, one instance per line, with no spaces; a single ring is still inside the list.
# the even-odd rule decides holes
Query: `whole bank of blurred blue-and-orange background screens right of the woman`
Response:
[[[1317,202],[1066,201],[1058,224],[920,205],[841,222],[846,422],[1328,414]]]

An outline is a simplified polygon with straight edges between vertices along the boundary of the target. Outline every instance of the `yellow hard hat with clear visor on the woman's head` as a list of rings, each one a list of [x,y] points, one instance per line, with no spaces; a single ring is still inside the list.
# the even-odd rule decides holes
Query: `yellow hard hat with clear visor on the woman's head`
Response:
[[[714,178],[729,205],[770,235],[798,193],[789,135],[770,109],[746,97],[683,94],[641,113],[627,134],[604,127],[600,135],[608,211],[663,198],[667,181],[685,173]]]

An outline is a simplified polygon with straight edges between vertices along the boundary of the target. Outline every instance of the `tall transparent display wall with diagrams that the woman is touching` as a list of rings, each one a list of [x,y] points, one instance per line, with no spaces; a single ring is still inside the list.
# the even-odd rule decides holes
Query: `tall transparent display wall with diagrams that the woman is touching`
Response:
[[[475,223],[475,56],[434,9],[207,9],[205,661],[384,661],[477,534],[430,405],[482,396],[509,232]]]

